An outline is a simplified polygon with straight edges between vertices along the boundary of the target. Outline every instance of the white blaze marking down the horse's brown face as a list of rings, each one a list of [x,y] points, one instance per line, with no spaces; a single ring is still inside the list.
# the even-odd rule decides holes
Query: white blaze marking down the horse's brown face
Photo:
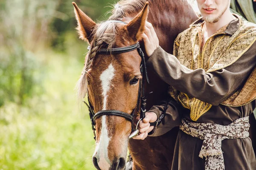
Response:
[[[102,110],[107,110],[107,98],[108,98],[108,91],[111,87],[111,80],[114,77],[115,69],[113,68],[113,65],[110,64],[108,68],[102,72],[100,75],[101,85],[102,85],[102,96],[103,96],[103,108]],[[101,117],[102,120],[102,129],[101,129],[101,135],[99,139],[99,143],[96,146],[95,152],[99,154],[99,167],[108,170],[110,168],[110,161],[108,159],[108,144],[110,141],[110,138],[108,137],[108,128],[107,128],[107,122],[106,122],[106,116]]]

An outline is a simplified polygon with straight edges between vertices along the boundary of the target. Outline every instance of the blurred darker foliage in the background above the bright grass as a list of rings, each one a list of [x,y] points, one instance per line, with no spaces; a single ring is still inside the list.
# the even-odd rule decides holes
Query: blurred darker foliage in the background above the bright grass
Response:
[[[85,52],[86,48],[82,48],[85,43],[79,42],[78,45],[71,2],[6,0],[0,4],[0,96],[5,96],[0,99],[0,106],[6,99],[23,104],[32,94],[41,93],[35,88],[40,86],[44,77],[40,72],[44,65],[35,56],[36,52],[43,52],[45,48],[66,54],[70,54],[70,48]],[[110,6],[110,2],[87,0],[77,4],[93,20],[105,20],[105,12],[111,8],[104,6]]]

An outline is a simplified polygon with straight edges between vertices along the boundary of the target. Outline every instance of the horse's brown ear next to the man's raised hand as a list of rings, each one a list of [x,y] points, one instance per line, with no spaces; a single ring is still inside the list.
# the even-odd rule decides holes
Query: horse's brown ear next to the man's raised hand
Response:
[[[131,22],[128,23],[128,25],[126,26],[128,33],[135,40],[140,40],[142,38],[141,36],[144,32],[144,27],[146,24],[147,17],[148,17],[148,2],[145,3],[145,6],[140,11],[140,13],[137,14],[137,16],[134,17],[134,19],[131,20]]]

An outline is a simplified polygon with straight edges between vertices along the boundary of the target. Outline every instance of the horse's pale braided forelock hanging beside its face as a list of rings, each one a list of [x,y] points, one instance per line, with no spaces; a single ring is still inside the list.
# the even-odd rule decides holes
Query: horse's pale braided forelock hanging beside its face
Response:
[[[92,67],[96,52],[100,48],[106,48],[105,45],[108,46],[108,49],[113,48],[116,39],[116,29],[116,23],[110,22],[99,23],[93,29],[93,40],[90,44],[90,50],[86,55],[84,69],[76,85],[79,101],[81,101],[87,93],[87,76],[90,76],[88,72]]]

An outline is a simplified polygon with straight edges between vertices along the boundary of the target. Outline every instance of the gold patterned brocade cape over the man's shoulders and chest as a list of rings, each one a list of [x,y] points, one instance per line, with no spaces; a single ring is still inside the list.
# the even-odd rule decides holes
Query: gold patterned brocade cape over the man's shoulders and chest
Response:
[[[184,31],[185,33],[179,34],[177,43],[180,46],[178,50],[174,48],[174,54],[176,54],[181,64],[188,68],[190,67],[192,70],[203,68],[206,73],[209,73],[225,68],[236,62],[256,42],[256,25],[243,21],[241,18],[239,18],[239,23],[238,31],[232,36],[225,33],[226,25],[209,37],[203,46],[202,52],[198,41],[203,23],[197,23]],[[212,43],[209,43],[210,40]],[[218,51],[216,51],[217,47]],[[188,57],[189,55],[192,57]],[[244,87],[221,104],[241,106],[256,99],[256,84],[253,84],[255,79],[256,69],[247,79]],[[184,108],[190,109],[190,117],[194,121],[198,120],[200,116],[212,107],[211,104],[179,92],[175,88],[170,87],[169,89],[172,89],[169,90],[169,94],[174,99],[180,102]],[[248,91],[251,91],[251,93],[248,93]]]

